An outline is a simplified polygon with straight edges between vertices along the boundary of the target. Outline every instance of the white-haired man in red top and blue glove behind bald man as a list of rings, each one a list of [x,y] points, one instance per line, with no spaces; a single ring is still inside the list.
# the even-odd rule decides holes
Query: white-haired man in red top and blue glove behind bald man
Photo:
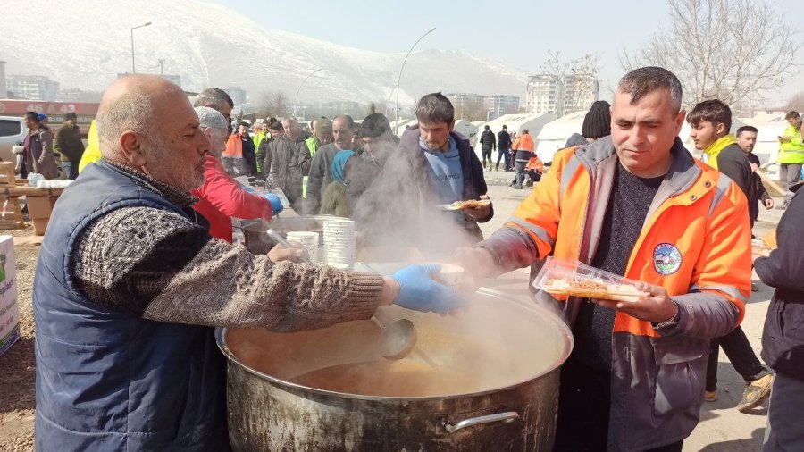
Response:
[[[209,221],[209,235],[231,242],[231,217],[270,221],[272,214],[282,211],[282,203],[279,197],[271,193],[262,197],[248,193],[226,172],[221,162],[229,138],[226,118],[207,106],[197,106],[196,113],[198,127],[204,132],[210,146],[205,161],[204,185],[191,192],[198,197],[193,209]]]

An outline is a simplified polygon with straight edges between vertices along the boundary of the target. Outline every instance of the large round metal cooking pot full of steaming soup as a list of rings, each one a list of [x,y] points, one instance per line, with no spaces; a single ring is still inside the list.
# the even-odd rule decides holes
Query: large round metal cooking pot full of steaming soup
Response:
[[[414,353],[396,362],[380,356],[371,321],[219,329],[232,446],[551,450],[569,329],[549,308],[491,289],[470,305],[456,316],[382,306],[384,321],[407,318],[418,331]]]

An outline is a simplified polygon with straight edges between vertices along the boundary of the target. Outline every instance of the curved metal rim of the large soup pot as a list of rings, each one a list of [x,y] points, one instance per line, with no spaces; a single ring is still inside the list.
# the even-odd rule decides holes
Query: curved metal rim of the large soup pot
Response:
[[[304,385],[300,385],[300,384],[297,384],[297,383],[291,383],[289,381],[281,380],[279,378],[273,377],[273,376],[265,374],[263,372],[255,371],[251,367],[249,367],[246,364],[243,364],[242,362],[240,362],[238,357],[235,356],[234,353],[231,352],[229,347],[226,347],[226,330],[227,330],[226,327],[217,327],[217,328],[215,328],[215,343],[218,345],[218,348],[221,350],[223,355],[226,356],[226,358],[231,363],[237,364],[243,370],[245,370],[246,372],[251,373],[252,375],[255,375],[256,377],[260,377],[260,378],[262,378],[264,380],[271,381],[272,383],[274,383],[274,384],[276,384],[278,386],[288,387],[290,389],[297,389],[297,390],[313,392],[315,394],[320,394],[320,395],[323,395],[323,396],[330,396],[330,397],[337,397],[337,398],[354,398],[354,399],[359,399],[359,400],[377,400],[377,401],[386,401],[386,402],[387,401],[406,402],[406,401],[426,401],[426,400],[450,400],[450,399],[457,399],[457,398],[485,396],[485,395],[488,395],[488,394],[493,394],[493,393],[504,391],[504,390],[507,390],[507,389],[513,389],[515,387],[523,385],[524,383],[534,381],[534,380],[538,380],[541,377],[543,377],[544,375],[547,375],[550,372],[553,372],[553,371],[557,370],[557,368],[566,361],[566,358],[569,357],[569,354],[573,349],[573,343],[574,343],[573,335],[572,335],[569,327],[566,325],[566,323],[563,322],[559,318],[559,316],[557,314],[550,312],[549,309],[547,309],[547,308],[545,308],[543,306],[538,306],[538,305],[535,305],[533,303],[525,304],[520,300],[508,297],[506,294],[500,292],[499,290],[488,289],[488,288],[480,288],[480,289],[477,290],[477,292],[482,294],[482,295],[487,295],[487,296],[491,296],[491,297],[498,297],[498,298],[505,299],[507,302],[519,305],[523,309],[528,309],[528,310],[532,310],[532,311],[538,311],[538,312],[542,312],[542,313],[545,313],[545,314],[549,314],[549,315],[544,316],[543,318],[545,318],[546,320],[549,320],[549,322],[551,322],[557,328],[558,331],[561,331],[563,333],[563,336],[565,338],[564,347],[561,350],[558,358],[552,364],[550,364],[544,371],[533,375],[532,377],[528,378],[527,380],[518,381],[518,382],[512,383],[510,385],[507,385],[507,386],[504,386],[504,387],[501,387],[501,388],[486,389],[486,390],[482,390],[482,391],[478,391],[478,392],[471,392],[471,393],[465,393],[465,394],[450,394],[448,396],[427,396],[427,397],[419,397],[419,398],[409,398],[409,397],[367,396],[367,395],[363,395],[363,394],[352,394],[352,393],[348,393],[348,392],[336,392],[336,391],[331,391],[331,390],[326,390],[326,389],[312,388],[312,387],[309,387],[309,386],[304,386]]]

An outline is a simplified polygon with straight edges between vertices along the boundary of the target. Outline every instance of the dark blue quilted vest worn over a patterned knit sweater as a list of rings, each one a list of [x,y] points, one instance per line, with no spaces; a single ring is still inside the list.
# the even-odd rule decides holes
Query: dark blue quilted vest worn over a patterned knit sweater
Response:
[[[67,271],[88,224],[126,206],[195,218],[104,162],[64,190],[33,287],[37,450],[228,449],[225,361],[213,330],[97,306]]]

